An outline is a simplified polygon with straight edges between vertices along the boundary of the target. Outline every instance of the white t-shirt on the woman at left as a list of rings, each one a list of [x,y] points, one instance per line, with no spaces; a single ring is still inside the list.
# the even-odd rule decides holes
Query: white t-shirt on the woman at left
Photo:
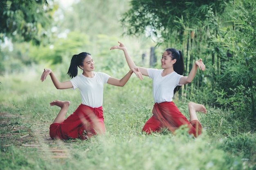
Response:
[[[94,72],[94,77],[88,78],[83,74],[73,77],[70,81],[73,89],[79,88],[82,104],[92,108],[103,104],[103,84],[110,76],[103,72]]]

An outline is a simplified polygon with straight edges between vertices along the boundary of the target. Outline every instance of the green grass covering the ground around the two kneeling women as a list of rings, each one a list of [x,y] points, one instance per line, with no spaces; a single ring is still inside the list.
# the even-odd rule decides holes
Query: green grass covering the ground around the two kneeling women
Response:
[[[29,73],[1,77],[1,170],[256,169],[256,135],[245,129],[246,122],[233,120],[228,111],[205,105],[207,115],[198,113],[204,131],[196,139],[186,129],[179,129],[177,135],[166,130],[142,133],[154,103],[151,80],[139,81],[135,75],[124,87],[105,85],[106,134],[88,141],[52,140],[49,125],[59,109],[49,102],[70,100],[68,116],[81,103],[79,90],[57,90],[49,77],[40,82],[41,70]],[[121,78],[125,73],[121,70],[112,76]],[[188,102],[175,99],[187,117]]]

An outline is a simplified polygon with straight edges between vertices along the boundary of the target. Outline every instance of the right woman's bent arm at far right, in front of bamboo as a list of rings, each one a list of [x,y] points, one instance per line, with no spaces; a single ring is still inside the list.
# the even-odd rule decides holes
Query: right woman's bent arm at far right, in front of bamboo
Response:
[[[193,78],[195,77],[195,74],[196,74],[196,70],[198,69],[204,71],[205,70],[205,65],[204,63],[202,62],[202,59],[199,59],[198,61],[195,61],[190,73],[189,73],[189,76],[183,76],[182,78],[180,78],[180,83],[179,84],[188,84],[188,83],[191,83],[191,81],[193,80]]]

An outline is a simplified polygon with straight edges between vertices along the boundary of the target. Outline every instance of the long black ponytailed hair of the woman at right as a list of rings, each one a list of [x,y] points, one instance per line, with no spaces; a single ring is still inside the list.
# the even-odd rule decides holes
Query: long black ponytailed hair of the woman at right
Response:
[[[183,75],[184,61],[182,57],[182,52],[180,50],[176,50],[175,48],[167,48],[165,51],[173,60],[176,59],[176,62],[173,64],[173,70],[178,74]],[[181,86],[176,86],[173,94],[175,94],[180,89],[180,87]]]

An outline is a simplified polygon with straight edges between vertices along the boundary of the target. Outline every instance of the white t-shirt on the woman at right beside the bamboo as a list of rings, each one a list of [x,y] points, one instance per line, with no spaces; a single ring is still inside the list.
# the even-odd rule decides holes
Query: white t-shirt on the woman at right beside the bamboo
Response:
[[[173,101],[173,90],[179,84],[182,75],[177,72],[171,72],[166,76],[162,76],[164,69],[148,68],[148,76],[153,79],[153,98],[155,103]]]

